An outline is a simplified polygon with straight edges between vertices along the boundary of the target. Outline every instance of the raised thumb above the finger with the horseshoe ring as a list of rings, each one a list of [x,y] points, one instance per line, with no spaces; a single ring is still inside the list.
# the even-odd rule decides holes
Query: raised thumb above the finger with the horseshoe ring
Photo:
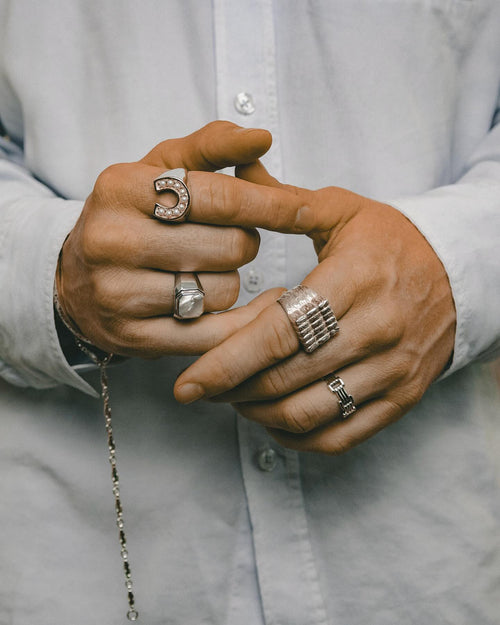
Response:
[[[159,143],[142,162],[169,169],[216,171],[257,160],[269,150],[271,143],[271,133],[267,130],[215,121],[182,139]]]

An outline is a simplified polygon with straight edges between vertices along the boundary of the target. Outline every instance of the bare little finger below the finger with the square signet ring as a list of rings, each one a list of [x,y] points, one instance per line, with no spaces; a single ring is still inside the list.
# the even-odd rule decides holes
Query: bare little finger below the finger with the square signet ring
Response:
[[[170,354],[198,355],[213,348],[248,324],[279,295],[273,289],[261,294],[249,305],[219,314],[204,314],[192,321],[173,317],[154,317],[116,321],[105,320],[95,329],[96,344],[122,356],[157,358]],[[87,328],[82,328],[88,336]]]

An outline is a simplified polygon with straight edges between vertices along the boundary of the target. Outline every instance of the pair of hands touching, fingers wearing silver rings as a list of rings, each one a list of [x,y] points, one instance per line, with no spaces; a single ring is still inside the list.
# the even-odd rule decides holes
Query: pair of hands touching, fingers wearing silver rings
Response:
[[[203,354],[175,384],[180,402],[231,402],[287,447],[340,453],[401,417],[444,369],[453,299],[441,262],[401,213],[344,189],[280,184],[258,160],[270,142],[266,131],[215,122],[105,170],[64,245],[60,299],[105,351]],[[236,178],[211,173],[232,165]],[[176,167],[189,172],[189,221],[162,224],[151,218],[152,181]],[[330,301],[341,330],[312,354],[276,303],[283,289],[194,321],[171,316],[176,271],[198,272],[207,312],[232,306],[256,227],[314,242],[319,262],[302,283]],[[321,380],[331,372],[358,406],[345,421]]]

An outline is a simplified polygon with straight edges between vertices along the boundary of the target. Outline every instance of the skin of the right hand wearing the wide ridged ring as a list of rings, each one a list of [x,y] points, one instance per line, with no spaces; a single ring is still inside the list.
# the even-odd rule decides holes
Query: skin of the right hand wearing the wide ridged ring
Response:
[[[310,236],[319,262],[302,283],[328,298],[340,332],[306,354],[272,303],[184,371],[175,396],[231,402],[285,447],[343,453],[410,410],[450,361],[456,317],[446,272],[389,205],[335,187],[281,185],[259,162],[237,174],[288,199],[273,213],[263,205],[226,222]],[[358,407],[345,420],[321,379],[332,372]]]

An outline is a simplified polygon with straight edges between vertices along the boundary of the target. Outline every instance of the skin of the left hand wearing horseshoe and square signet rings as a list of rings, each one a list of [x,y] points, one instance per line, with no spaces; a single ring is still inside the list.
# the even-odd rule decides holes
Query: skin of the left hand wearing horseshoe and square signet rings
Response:
[[[210,224],[211,211],[245,201],[244,181],[213,172],[255,161],[271,144],[265,130],[213,122],[183,139],[164,141],[137,163],[103,171],[64,243],[57,272],[59,299],[79,330],[97,347],[124,356],[199,354],[250,321],[272,301],[190,322],[171,317],[176,271],[197,271],[205,310],[230,308],[238,297],[237,268],[257,254],[254,228]],[[188,170],[191,222],[152,217],[163,171]],[[258,201],[258,197],[256,198]],[[161,201],[166,202],[165,194]],[[229,203],[229,204],[228,204]]]

